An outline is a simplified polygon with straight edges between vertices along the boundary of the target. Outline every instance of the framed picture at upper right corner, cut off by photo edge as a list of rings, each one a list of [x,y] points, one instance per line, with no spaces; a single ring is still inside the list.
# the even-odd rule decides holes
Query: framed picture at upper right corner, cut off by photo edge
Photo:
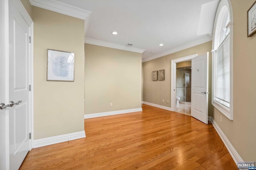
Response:
[[[247,37],[256,33],[256,2],[247,11]]]

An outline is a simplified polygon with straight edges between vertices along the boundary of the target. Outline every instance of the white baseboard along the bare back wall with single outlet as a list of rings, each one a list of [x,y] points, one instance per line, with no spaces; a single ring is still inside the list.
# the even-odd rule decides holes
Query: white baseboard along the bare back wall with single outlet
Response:
[[[92,113],[88,115],[84,115],[84,119],[94,118],[94,117],[102,117],[102,116],[110,116],[110,115],[118,115],[123,113],[132,113],[136,111],[142,111],[142,108],[136,108],[136,109],[127,109],[127,110],[118,110],[118,111],[108,111],[108,112],[102,112],[102,113]]]

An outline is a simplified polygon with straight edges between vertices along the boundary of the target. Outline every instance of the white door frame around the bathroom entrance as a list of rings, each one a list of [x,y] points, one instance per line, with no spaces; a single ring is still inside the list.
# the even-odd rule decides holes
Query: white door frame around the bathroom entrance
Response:
[[[172,74],[171,74],[171,108],[172,111],[175,111],[176,109],[176,63],[180,63],[183,61],[191,61],[194,57],[196,57],[197,54],[189,55],[186,57],[181,57],[178,59],[173,59],[171,61],[171,68],[172,68]],[[193,78],[193,77],[192,77]]]

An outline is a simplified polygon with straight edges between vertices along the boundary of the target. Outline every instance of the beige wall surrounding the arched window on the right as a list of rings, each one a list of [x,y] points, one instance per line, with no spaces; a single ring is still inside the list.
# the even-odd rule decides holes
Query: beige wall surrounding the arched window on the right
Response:
[[[231,0],[234,17],[234,120],[217,109],[213,118],[244,161],[256,159],[256,35],[247,38],[247,11],[255,0]],[[222,122],[220,122],[222,116]]]

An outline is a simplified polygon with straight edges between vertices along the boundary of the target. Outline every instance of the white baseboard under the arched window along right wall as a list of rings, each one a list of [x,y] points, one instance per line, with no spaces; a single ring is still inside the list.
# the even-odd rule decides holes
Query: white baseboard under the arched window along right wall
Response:
[[[220,138],[222,139],[224,145],[228,149],[228,152],[230,153],[230,155],[233,158],[236,165],[237,165],[238,162],[244,162],[244,160],[241,158],[241,156],[238,154],[238,152],[236,152],[236,149],[234,149],[233,145],[230,143],[230,141],[228,140],[226,135],[222,132],[220,127],[217,125],[216,121],[214,121],[214,119],[210,116],[208,116],[208,118],[212,122],[213,127],[215,128],[215,130],[219,134]]]

